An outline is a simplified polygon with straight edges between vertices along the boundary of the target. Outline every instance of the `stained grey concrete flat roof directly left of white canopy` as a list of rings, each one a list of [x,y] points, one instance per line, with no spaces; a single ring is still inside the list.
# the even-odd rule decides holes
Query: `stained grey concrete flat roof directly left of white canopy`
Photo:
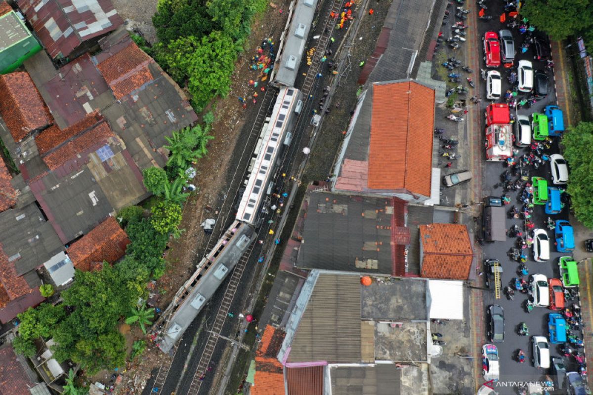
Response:
[[[391,278],[362,287],[362,319],[426,320],[426,287],[420,278]]]

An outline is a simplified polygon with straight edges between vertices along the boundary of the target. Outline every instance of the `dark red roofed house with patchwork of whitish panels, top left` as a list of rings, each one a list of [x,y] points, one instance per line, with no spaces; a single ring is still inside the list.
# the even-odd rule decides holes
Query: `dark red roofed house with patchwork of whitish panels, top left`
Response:
[[[52,59],[74,58],[123,24],[110,0],[17,0]]]

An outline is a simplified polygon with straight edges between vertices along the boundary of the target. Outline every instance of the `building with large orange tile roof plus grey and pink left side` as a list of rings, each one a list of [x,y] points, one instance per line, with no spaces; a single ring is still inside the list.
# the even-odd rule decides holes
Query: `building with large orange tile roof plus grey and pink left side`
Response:
[[[332,191],[428,201],[433,191],[435,92],[407,79],[363,92],[339,153]]]

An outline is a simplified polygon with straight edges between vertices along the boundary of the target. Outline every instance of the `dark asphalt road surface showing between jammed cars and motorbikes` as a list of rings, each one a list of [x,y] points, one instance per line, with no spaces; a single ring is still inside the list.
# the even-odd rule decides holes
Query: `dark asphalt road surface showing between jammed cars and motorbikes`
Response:
[[[494,10],[488,9],[489,15],[500,15],[502,14],[503,10],[500,7],[501,4],[495,4],[494,2],[489,2],[489,7],[495,8]],[[498,7],[498,9],[497,9]],[[489,22],[482,22],[478,25],[478,34],[480,37],[483,37],[486,31],[496,31],[498,32],[500,29],[506,28],[506,23],[501,24],[498,18],[493,19]],[[515,39],[515,48],[519,49],[521,44],[524,41],[524,36],[519,34],[518,28],[511,30]],[[480,40],[481,41],[481,40]],[[480,42],[481,44],[481,42]],[[483,54],[483,47],[480,48],[480,52]],[[533,66],[535,70],[545,70],[546,62],[540,62],[538,60],[534,60],[534,49],[533,46],[527,51],[527,53],[521,54],[520,50],[517,53],[517,60],[515,61],[515,65],[517,64],[518,60],[526,59],[531,60],[533,62]],[[485,68],[485,64],[482,60],[480,63],[480,68]],[[510,73],[509,69],[504,69],[502,67],[498,68],[499,72],[502,75],[503,80],[503,89],[502,92],[505,92],[506,89],[510,89],[510,84],[507,81],[507,76]],[[534,112],[543,112],[543,108],[546,105],[556,104],[555,102],[555,92],[553,86],[553,78],[551,72],[547,72],[550,78],[550,93],[549,95],[541,100],[538,101],[533,107],[528,108],[524,107],[519,109],[516,113],[521,115],[531,115]],[[482,84],[483,89],[485,89],[485,84]],[[486,92],[479,92],[480,97],[485,98]],[[518,99],[520,100],[523,97],[528,97],[528,94],[521,94],[519,93]],[[502,102],[500,100],[499,102]],[[486,105],[489,104],[486,100],[483,100],[481,103],[482,112]],[[483,130],[483,129],[482,129]],[[483,133],[483,132],[482,132]],[[549,155],[551,153],[559,153],[558,148],[558,140],[559,137],[553,137],[554,143],[553,146],[546,151]],[[526,153],[529,151],[529,148],[526,149],[519,149],[519,155]],[[483,154],[483,159],[485,160],[485,155]],[[498,196],[500,197],[503,194],[502,187],[493,188],[493,185],[499,182],[500,175],[503,171],[507,168],[503,163],[500,162],[487,162],[486,165],[483,166],[483,180],[484,185],[483,187],[483,195],[485,196]],[[551,185],[551,173],[550,173],[550,165],[549,163],[544,163],[543,166],[540,166],[539,169],[534,169],[533,166],[528,167],[531,176],[542,176],[549,180]],[[521,208],[521,203],[517,200],[519,192],[509,192],[511,195],[511,204],[506,206],[506,210],[508,211],[511,205],[516,205],[518,209]],[[543,205],[535,205],[534,212],[532,216],[532,221],[535,224],[536,228],[541,228],[547,230],[546,227],[546,220],[548,215],[544,213],[544,206]],[[566,207],[562,213],[551,216],[552,219],[567,219],[568,220],[568,207]],[[523,221],[522,219],[508,219],[506,218],[506,227],[507,229],[511,227],[513,224],[517,224],[523,230]],[[533,249],[529,248],[524,251],[528,251],[528,260],[526,262],[527,268],[529,269],[529,274],[543,274],[547,278],[558,278],[559,277],[559,268],[557,265],[558,258],[560,256],[569,255],[568,253],[559,253],[556,252],[555,246],[553,244],[554,239],[554,231],[547,230],[548,236],[550,237],[550,260],[546,262],[536,262],[533,259]],[[495,243],[487,243],[483,246],[483,258],[495,258],[499,259],[503,267],[503,274],[501,277],[502,286],[505,287],[506,284],[512,280],[512,278],[517,277],[517,268],[518,263],[515,261],[511,261],[506,251],[509,251],[510,248],[515,246],[515,238],[507,237],[505,242],[495,242]],[[484,275],[486,275],[486,271],[484,271]],[[515,292],[514,300],[508,300],[504,294],[501,294],[501,298],[496,300],[494,297],[494,291],[484,291],[484,320],[486,320],[486,310],[487,306],[490,304],[499,304],[505,310],[505,341],[502,344],[498,344],[499,355],[500,355],[500,381],[544,381],[545,375],[550,374],[550,372],[546,372],[544,370],[535,368],[533,363],[531,362],[531,358],[533,358],[533,352],[531,347],[531,336],[533,335],[541,335],[546,336],[548,338],[548,330],[547,330],[547,318],[548,314],[552,313],[553,311],[546,309],[545,307],[534,307],[531,313],[527,313],[524,309],[525,299],[527,298],[526,295],[521,294],[519,292]],[[569,304],[571,302],[567,302]],[[520,336],[517,333],[517,326],[519,323],[525,322],[529,327],[529,335],[530,336]],[[517,354],[517,350],[522,349],[525,351],[527,355],[527,361],[523,364],[519,364],[515,361],[515,355]],[[559,356],[559,349],[556,345],[550,345],[551,356]],[[567,363],[568,361],[565,361]],[[574,368],[574,364],[569,364],[570,367]],[[514,394],[515,389],[511,388],[503,388],[497,387],[496,391],[500,394]]]

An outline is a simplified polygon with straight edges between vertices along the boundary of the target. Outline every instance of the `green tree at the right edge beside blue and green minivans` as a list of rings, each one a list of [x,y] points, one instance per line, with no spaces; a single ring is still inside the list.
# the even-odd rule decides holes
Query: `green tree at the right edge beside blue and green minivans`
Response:
[[[570,165],[568,193],[575,217],[586,227],[593,228],[593,123],[581,122],[565,132],[562,144]]]

